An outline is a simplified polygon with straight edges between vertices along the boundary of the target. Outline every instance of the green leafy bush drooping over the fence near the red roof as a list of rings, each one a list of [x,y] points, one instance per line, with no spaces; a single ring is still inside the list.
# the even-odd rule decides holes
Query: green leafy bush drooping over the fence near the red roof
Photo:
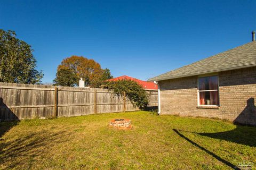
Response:
[[[145,109],[149,103],[149,96],[140,84],[132,80],[107,81],[106,87],[118,97],[125,96],[130,99],[133,106]]]

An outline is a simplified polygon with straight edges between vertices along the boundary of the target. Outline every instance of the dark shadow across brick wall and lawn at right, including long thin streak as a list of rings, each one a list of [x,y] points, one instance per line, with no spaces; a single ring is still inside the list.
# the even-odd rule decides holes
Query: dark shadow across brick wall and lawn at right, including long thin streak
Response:
[[[248,126],[247,124],[254,124],[256,125],[256,107],[254,104],[254,98],[249,98],[247,100],[247,105],[237,116],[235,119],[234,123],[236,124],[236,128],[230,131],[225,131],[225,132],[217,132],[217,133],[196,133],[196,132],[189,132],[189,133],[194,133],[194,134],[199,134],[205,137],[209,138],[214,138],[214,139],[221,139],[225,141],[230,141],[234,143],[238,143],[241,145],[246,145],[250,147],[256,147],[256,127],[254,126]],[[246,125],[245,125],[246,124]],[[218,159],[220,162],[223,164],[226,164],[230,168],[233,169],[241,169],[240,167],[237,167],[236,165],[228,162],[227,160],[221,158],[217,154],[214,154],[214,152],[207,150],[203,146],[199,145],[195,141],[189,139],[186,137],[182,132],[188,132],[188,131],[182,131],[182,130],[177,130],[173,129],[175,133],[177,133],[181,138],[185,139],[195,147],[204,150],[207,152],[207,154],[213,156],[214,158]]]

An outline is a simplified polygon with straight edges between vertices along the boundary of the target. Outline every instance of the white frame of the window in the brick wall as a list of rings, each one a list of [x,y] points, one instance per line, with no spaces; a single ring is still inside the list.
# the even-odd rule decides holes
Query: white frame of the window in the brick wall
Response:
[[[217,81],[218,81],[218,89],[217,90],[199,90],[199,78],[204,78],[204,77],[212,77],[212,76],[217,76]],[[200,104],[200,96],[199,92],[203,91],[218,91],[218,105],[201,105]],[[212,74],[203,74],[203,75],[198,75],[197,77],[197,106],[203,106],[203,107],[216,107],[220,106],[220,89],[219,89],[219,74],[218,73],[212,73]]]

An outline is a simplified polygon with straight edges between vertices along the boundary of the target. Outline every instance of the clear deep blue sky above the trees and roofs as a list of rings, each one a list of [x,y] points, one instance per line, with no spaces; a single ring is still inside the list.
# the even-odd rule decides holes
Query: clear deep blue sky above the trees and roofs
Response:
[[[250,42],[256,1],[0,0],[0,29],[32,46],[43,82],[71,55],[147,80]]]

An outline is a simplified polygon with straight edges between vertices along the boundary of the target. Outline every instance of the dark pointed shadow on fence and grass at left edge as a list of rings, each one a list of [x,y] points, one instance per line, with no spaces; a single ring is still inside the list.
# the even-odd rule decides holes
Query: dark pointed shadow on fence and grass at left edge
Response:
[[[2,140],[2,136],[13,126],[17,125],[18,122],[19,118],[4,104],[3,98],[0,97],[0,140]]]

